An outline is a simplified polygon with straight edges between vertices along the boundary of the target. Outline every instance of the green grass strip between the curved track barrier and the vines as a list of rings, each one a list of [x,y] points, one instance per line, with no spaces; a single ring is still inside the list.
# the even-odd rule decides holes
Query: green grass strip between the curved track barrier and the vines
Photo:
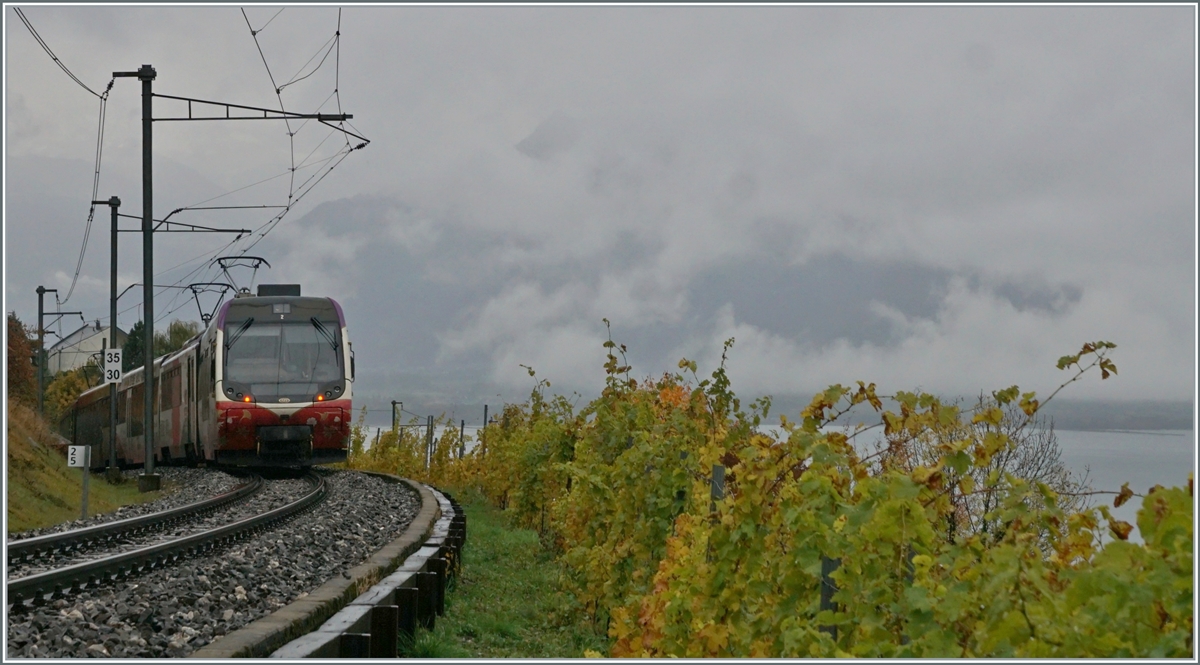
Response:
[[[432,633],[403,645],[410,658],[582,658],[608,652],[607,637],[570,612],[558,591],[559,564],[538,532],[511,528],[504,515],[468,492],[463,570]]]

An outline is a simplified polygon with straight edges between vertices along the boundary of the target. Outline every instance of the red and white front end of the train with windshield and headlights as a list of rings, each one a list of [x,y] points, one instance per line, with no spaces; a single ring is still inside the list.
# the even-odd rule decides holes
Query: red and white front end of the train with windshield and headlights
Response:
[[[342,308],[329,298],[227,302],[216,322],[218,463],[342,462],[354,372]]]

